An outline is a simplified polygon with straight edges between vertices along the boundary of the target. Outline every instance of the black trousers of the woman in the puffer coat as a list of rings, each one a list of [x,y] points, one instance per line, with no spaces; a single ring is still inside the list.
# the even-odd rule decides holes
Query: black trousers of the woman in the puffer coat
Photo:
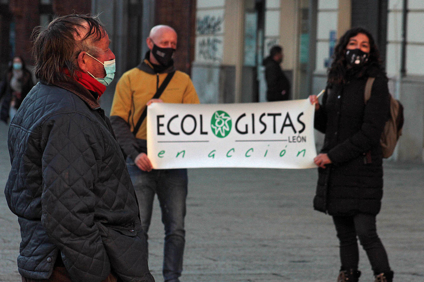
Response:
[[[333,216],[337,237],[340,241],[341,270],[357,270],[359,249],[357,238],[365,250],[374,274],[390,271],[386,250],[377,235],[376,216],[357,214]]]

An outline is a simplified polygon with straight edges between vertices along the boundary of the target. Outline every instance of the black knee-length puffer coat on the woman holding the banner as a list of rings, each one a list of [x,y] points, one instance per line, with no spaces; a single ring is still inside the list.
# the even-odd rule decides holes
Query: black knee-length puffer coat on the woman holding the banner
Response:
[[[361,75],[362,74],[362,75]],[[351,72],[346,84],[327,87],[315,112],[315,128],[325,133],[321,153],[333,164],[318,169],[314,208],[330,215],[378,214],[383,169],[379,139],[389,116],[387,78],[377,68]],[[375,77],[365,105],[368,77]]]

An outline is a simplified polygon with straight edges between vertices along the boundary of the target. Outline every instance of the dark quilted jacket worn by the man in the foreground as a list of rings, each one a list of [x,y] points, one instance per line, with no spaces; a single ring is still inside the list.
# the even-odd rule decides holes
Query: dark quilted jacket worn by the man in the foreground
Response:
[[[21,227],[22,276],[47,279],[61,254],[73,281],[111,272],[153,281],[123,155],[88,90],[39,82],[11,122],[8,148],[5,194]]]

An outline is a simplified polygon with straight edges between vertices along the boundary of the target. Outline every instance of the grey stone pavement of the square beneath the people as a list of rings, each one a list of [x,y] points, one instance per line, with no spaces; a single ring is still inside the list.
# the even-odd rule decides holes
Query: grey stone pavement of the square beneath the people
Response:
[[[10,162],[7,126],[0,124],[0,186]],[[424,282],[424,165],[385,163],[378,233],[395,281]],[[338,241],[330,216],[313,211],[317,172],[273,169],[191,169],[184,282],[331,282]],[[2,193],[3,195],[3,193]],[[156,201],[149,231],[149,266],[161,275],[163,227]],[[0,197],[0,281],[17,282],[17,217]],[[360,252],[361,281],[374,281]]]

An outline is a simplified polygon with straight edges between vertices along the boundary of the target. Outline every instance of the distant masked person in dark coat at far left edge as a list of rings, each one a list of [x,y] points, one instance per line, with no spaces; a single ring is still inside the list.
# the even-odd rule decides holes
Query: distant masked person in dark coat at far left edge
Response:
[[[32,74],[25,67],[25,61],[22,57],[15,56],[0,84],[0,120],[8,123],[13,118],[33,86]]]

